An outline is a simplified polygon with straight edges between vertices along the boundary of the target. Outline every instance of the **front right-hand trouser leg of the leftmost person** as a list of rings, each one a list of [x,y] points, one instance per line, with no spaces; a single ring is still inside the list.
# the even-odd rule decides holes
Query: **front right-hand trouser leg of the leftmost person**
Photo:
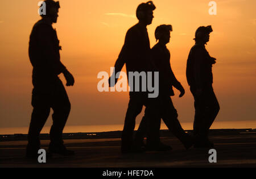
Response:
[[[63,129],[67,122],[71,103],[69,102],[67,92],[59,80],[56,82],[52,95],[52,120],[53,124],[50,130],[51,145],[62,145]]]

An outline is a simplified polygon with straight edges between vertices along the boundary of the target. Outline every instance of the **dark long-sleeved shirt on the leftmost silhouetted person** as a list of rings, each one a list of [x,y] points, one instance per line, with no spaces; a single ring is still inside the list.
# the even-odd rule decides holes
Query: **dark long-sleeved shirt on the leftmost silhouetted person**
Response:
[[[28,54],[33,66],[32,79],[36,84],[46,84],[66,68],[60,61],[59,40],[56,30],[46,20],[35,23],[30,35]]]

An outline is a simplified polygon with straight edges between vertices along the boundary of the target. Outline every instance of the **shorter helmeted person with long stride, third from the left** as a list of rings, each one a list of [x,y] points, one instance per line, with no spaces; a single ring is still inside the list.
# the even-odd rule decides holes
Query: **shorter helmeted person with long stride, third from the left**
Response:
[[[154,119],[154,122],[148,123],[149,126],[147,130],[146,123],[148,119],[146,119],[146,113],[149,110],[147,110],[146,107],[145,115],[143,116],[135,135],[135,143],[139,146],[143,146],[143,138],[146,133],[147,136],[158,134],[158,143],[155,141],[154,143],[151,143],[151,141],[147,140],[146,149],[148,151],[168,151],[172,149],[169,145],[165,145],[160,142],[159,130],[161,118],[172,134],[174,134],[181,143],[183,143],[185,148],[188,149],[193,145],[193,139],[184,132],[179,120],[177,119],[177,111],[170,97],[174,95],[173,87],[180,91],[179,97],[182,97],[185,93],[183,86],[179,81],[177,81],[174,72],[172,72],[170,64],[171,55],[170,51],[166,47],[166,44],[170,42],[171,31],[171,25],[163,24],[156,27],[155,38],[156,41],[159,40],[159,42],[151,49],[152,59],[159,71],[159,103],[154,106],[157,107],[157,109],[152,110],[159,110],[159,116]],[[152,132],[152,130],[158,131]]]

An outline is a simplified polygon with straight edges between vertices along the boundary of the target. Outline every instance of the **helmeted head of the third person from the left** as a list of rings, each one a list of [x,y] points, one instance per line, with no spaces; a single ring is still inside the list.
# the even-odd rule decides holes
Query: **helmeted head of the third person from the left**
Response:
[[[155,29],[155,39],[159,40],[160,43],[167,44],[170,41],[172,31],[172,25],[160,25]]]

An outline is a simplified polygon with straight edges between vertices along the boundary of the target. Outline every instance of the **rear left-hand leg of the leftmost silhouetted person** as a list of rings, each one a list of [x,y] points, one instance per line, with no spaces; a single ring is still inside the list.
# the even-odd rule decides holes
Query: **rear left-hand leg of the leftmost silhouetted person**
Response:
[[[40,148],[40,132],[46,123],[49,116],[50,106],[49,97],[47,94],[35,93],[32,94],[32,106],[34,107],[31,115],[30,127],[28,130],[28,144],[27,144],[27,156],[34,157],[37,155]]]

